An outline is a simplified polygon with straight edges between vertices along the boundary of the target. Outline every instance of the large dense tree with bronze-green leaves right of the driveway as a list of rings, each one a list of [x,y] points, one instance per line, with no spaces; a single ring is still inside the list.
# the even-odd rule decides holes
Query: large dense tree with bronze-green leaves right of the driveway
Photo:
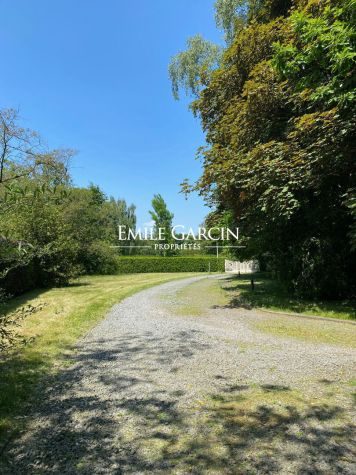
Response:
[[[184,188],[232,212],[246,252],[301,294],[352,295],[355,1],[242,3],[219,66],[192,91],[207,146]]]

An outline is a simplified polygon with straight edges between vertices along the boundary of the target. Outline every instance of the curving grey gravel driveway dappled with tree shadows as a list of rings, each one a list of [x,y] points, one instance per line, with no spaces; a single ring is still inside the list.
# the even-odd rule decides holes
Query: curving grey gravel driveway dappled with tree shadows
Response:
[[[268,316],[258,310],[176,315],[177,291],[199,279],[111,310],[42,394],[8,450],[8,473],[355,473],[349,403],[338,391],[355,374],[355,352],[259,332],[253,322]],[[262,401],[232,418],[231,404],[261,393],[274,409]]]

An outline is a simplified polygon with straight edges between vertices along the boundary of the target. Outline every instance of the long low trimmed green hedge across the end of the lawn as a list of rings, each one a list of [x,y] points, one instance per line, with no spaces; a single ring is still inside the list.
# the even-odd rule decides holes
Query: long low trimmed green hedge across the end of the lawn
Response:
[[[118,274],[143,272],[224,272],[225,259],[208,257],[120,256]]]

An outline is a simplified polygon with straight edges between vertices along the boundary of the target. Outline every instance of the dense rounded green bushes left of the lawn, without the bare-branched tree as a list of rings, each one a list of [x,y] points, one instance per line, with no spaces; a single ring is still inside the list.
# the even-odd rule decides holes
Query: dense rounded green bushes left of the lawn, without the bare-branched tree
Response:
[[[110,245],[117,244],[119,223],[128,220],[135,222],[134,207],[127,207],[124,200],[106,200],[93,186],[68,189],[62,202],[41,195],[21,203],[7,215],[6,222],[1,217],[0,222],[6,235],[29,243],[28,258],[17,253],[10,260],[2,259],[0,270],[1,265],[4,270],[13,268],[3,279],[3,287],[19,294],[37,285],[66,285],[82,273],[115,273],[115,253]]]

